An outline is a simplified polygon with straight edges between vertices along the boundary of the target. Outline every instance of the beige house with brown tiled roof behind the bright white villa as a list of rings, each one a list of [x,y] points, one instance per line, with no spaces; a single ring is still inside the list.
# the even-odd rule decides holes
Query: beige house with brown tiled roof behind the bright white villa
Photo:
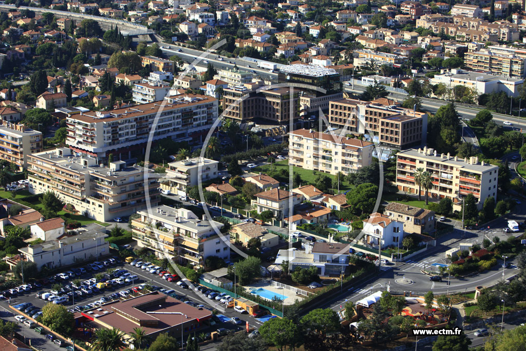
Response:
[[[403,223],[404,233],[433,233],[437,219],[434,211],[391,202],[383,211],[390,219]]]

